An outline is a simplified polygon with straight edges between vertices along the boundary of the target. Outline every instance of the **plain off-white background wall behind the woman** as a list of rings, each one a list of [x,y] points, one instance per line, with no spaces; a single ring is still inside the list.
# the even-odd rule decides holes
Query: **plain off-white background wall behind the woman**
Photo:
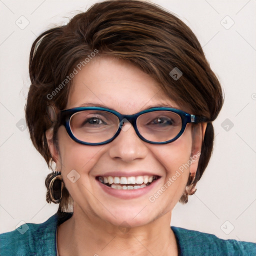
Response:
[[[28,56],[42,31],[63,24],[94,0],[0,0],[0,233],[20,221],[41,223],[57,205],[45,200],[49,172],[24,123]],[[256,241],[256,0],[154,0],[195,33],[225,93],[214,151],[171,225],[220,238]]]

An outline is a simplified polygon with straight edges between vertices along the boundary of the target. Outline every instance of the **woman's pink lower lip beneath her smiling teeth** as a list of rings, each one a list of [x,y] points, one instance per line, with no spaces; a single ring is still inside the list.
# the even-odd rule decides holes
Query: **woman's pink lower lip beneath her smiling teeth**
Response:
[[[137,189],[115,189],[111,188],[107,185],[102,184],[99,180],[96,179],[99,186],[108,194],[113,195],[115,197],[119,197],[122,199],[132,199],[139,196],[142,196],[146,193],[148,193],[151,189],[153,189],[156,184],[159,182],[160,178],[154,180],[150,185],[147,185],[142,188]]]

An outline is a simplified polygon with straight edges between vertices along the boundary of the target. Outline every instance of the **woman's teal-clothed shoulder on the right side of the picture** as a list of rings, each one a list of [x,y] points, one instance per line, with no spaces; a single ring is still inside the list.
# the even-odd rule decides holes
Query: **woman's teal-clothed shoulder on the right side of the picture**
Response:
[[[180,248],[180,255],[256,255],[256,243],[220,239],[213,234],[171,226]]]

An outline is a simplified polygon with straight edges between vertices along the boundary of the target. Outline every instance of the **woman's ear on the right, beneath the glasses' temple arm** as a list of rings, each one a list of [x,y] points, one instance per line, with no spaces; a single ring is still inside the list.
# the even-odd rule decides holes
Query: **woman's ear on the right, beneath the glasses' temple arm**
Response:
[[[201,154],[201,146],[204,140],[204,134],[206,129],[207,123],[202,122],[194,127],[192,127],[192,148],[191,148],[191,155],[190,155],[190,178],[193,180],[196,174],[200,154]]]

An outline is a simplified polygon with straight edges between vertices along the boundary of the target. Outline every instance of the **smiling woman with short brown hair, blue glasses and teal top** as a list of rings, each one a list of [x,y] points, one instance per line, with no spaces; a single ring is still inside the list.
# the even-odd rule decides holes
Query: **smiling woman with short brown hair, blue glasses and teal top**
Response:
[[[142,1],[105,1],[42,33],[26,121],[55,163],[57,214],[0,235],[1,255],[255,255],[255,244],[169,226],[209,161],[220,84],[191,30]],[[21,227],[22,229],[22,227]]]

